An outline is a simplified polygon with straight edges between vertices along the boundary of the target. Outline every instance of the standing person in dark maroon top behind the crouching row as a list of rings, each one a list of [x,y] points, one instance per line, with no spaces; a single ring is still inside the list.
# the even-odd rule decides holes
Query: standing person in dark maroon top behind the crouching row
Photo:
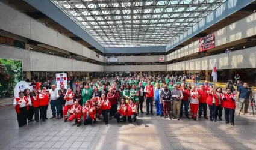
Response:
[[[111,109],[110,109],[110,120],[112,119],[112,116],[114,116],[114,113],[116,113],[117,110],[117,94],[114,92],[113,88],[110,88],[110,92],[107,94],[107,98],[111,103]]]

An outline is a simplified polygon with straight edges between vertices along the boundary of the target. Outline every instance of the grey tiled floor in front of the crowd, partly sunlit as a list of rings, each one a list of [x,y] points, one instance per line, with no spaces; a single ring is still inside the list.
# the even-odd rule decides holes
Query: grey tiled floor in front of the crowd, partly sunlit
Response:
[[[256,149],[256,115],[239,117],[237,110],[235,124],[185,118],[169,121],[144,114],[137,125],[117,124],[113,119],[109,125],[98,121],[76,127],[49,119],[19,128],[14,107],[7,106],[0,107],[0,149]]]

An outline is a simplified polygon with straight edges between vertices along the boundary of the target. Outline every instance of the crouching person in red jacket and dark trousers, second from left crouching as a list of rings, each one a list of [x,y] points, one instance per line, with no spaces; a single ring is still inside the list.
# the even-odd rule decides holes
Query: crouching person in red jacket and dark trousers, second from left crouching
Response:
[[[95,117],[93,109],[95,109],[95,107],[90,105],[90,101],[87,100],[83,108],[84,125],[92,124],[92,119]]]

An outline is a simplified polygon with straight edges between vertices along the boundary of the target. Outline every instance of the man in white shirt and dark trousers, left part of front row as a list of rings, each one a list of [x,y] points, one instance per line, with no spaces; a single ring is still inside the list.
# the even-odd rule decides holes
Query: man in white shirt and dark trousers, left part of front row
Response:
[[[51,110],[52,110],[52,117],[50,119],[53,119],[53,118],[58,119],[58,116],[60,116],[60,104],[58,103],[58,97],[60,97],[60,92],[58,92],[55,85],[52,85],[52,88],[49,89],[49,95],[50,95],[50,100],[51,100],[50,104],[51,104]]]

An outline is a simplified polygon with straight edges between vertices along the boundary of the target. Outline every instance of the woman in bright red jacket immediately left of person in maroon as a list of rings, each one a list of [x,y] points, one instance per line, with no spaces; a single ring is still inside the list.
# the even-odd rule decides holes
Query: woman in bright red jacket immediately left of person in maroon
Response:
[[[103,121],[105,124],[108,124],[108,113],[110,112],[111,103],[108,98],[106,98],[105,94],[101,95],[101,100],[98,104],[99,108],[102,110]]]

